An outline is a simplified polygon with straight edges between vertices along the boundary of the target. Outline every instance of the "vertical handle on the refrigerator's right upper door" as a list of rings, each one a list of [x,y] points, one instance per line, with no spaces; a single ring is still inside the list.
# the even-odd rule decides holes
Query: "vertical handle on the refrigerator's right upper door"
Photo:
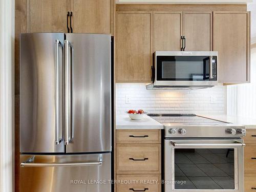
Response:
[[[73,46],[68,40],[64,41],[65,45],[65,145],[68,145],[73,139],[73,110],[70,108],[73,105],[71,104],[71,96],[73,95]],[[71,65],[69,65],[70,52],[69,47],[72,50],[71,54]],[[69,137],[69,125],[71,124],[71,137]]]

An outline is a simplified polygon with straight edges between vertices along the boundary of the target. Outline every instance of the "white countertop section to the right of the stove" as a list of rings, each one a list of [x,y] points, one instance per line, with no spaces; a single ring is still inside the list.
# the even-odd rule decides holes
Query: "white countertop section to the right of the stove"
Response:
[[[214,120],[224,121],[233,124],[240,124],[244,125],[246,129],[256,129],[256,119],[240,117],[240,116],[232,116],[232,115],[209,115],[209,114],[202,114],[198,115],[201,117],[206,117]]]

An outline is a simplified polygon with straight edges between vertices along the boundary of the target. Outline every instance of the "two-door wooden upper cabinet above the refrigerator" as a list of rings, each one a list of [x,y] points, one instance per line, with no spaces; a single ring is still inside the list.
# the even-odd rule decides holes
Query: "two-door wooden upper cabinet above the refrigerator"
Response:
[[[73,33],[114,34],[115,0],[27,1],[28,32],[67,33],[72,27]]]

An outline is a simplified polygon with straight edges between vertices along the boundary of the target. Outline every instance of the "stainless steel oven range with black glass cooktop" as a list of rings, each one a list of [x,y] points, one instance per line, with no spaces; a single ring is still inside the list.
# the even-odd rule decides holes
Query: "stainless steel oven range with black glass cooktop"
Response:
[[[148,114],[164,125],[165,192],[244,192],[245,126],[195,114]]]

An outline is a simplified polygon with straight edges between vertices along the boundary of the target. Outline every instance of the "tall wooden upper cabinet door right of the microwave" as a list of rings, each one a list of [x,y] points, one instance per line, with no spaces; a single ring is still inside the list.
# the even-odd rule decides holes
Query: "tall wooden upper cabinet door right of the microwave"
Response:
[[[250,14],[214,12],[214,51],[218,51],[218,80],[249,82]]]

